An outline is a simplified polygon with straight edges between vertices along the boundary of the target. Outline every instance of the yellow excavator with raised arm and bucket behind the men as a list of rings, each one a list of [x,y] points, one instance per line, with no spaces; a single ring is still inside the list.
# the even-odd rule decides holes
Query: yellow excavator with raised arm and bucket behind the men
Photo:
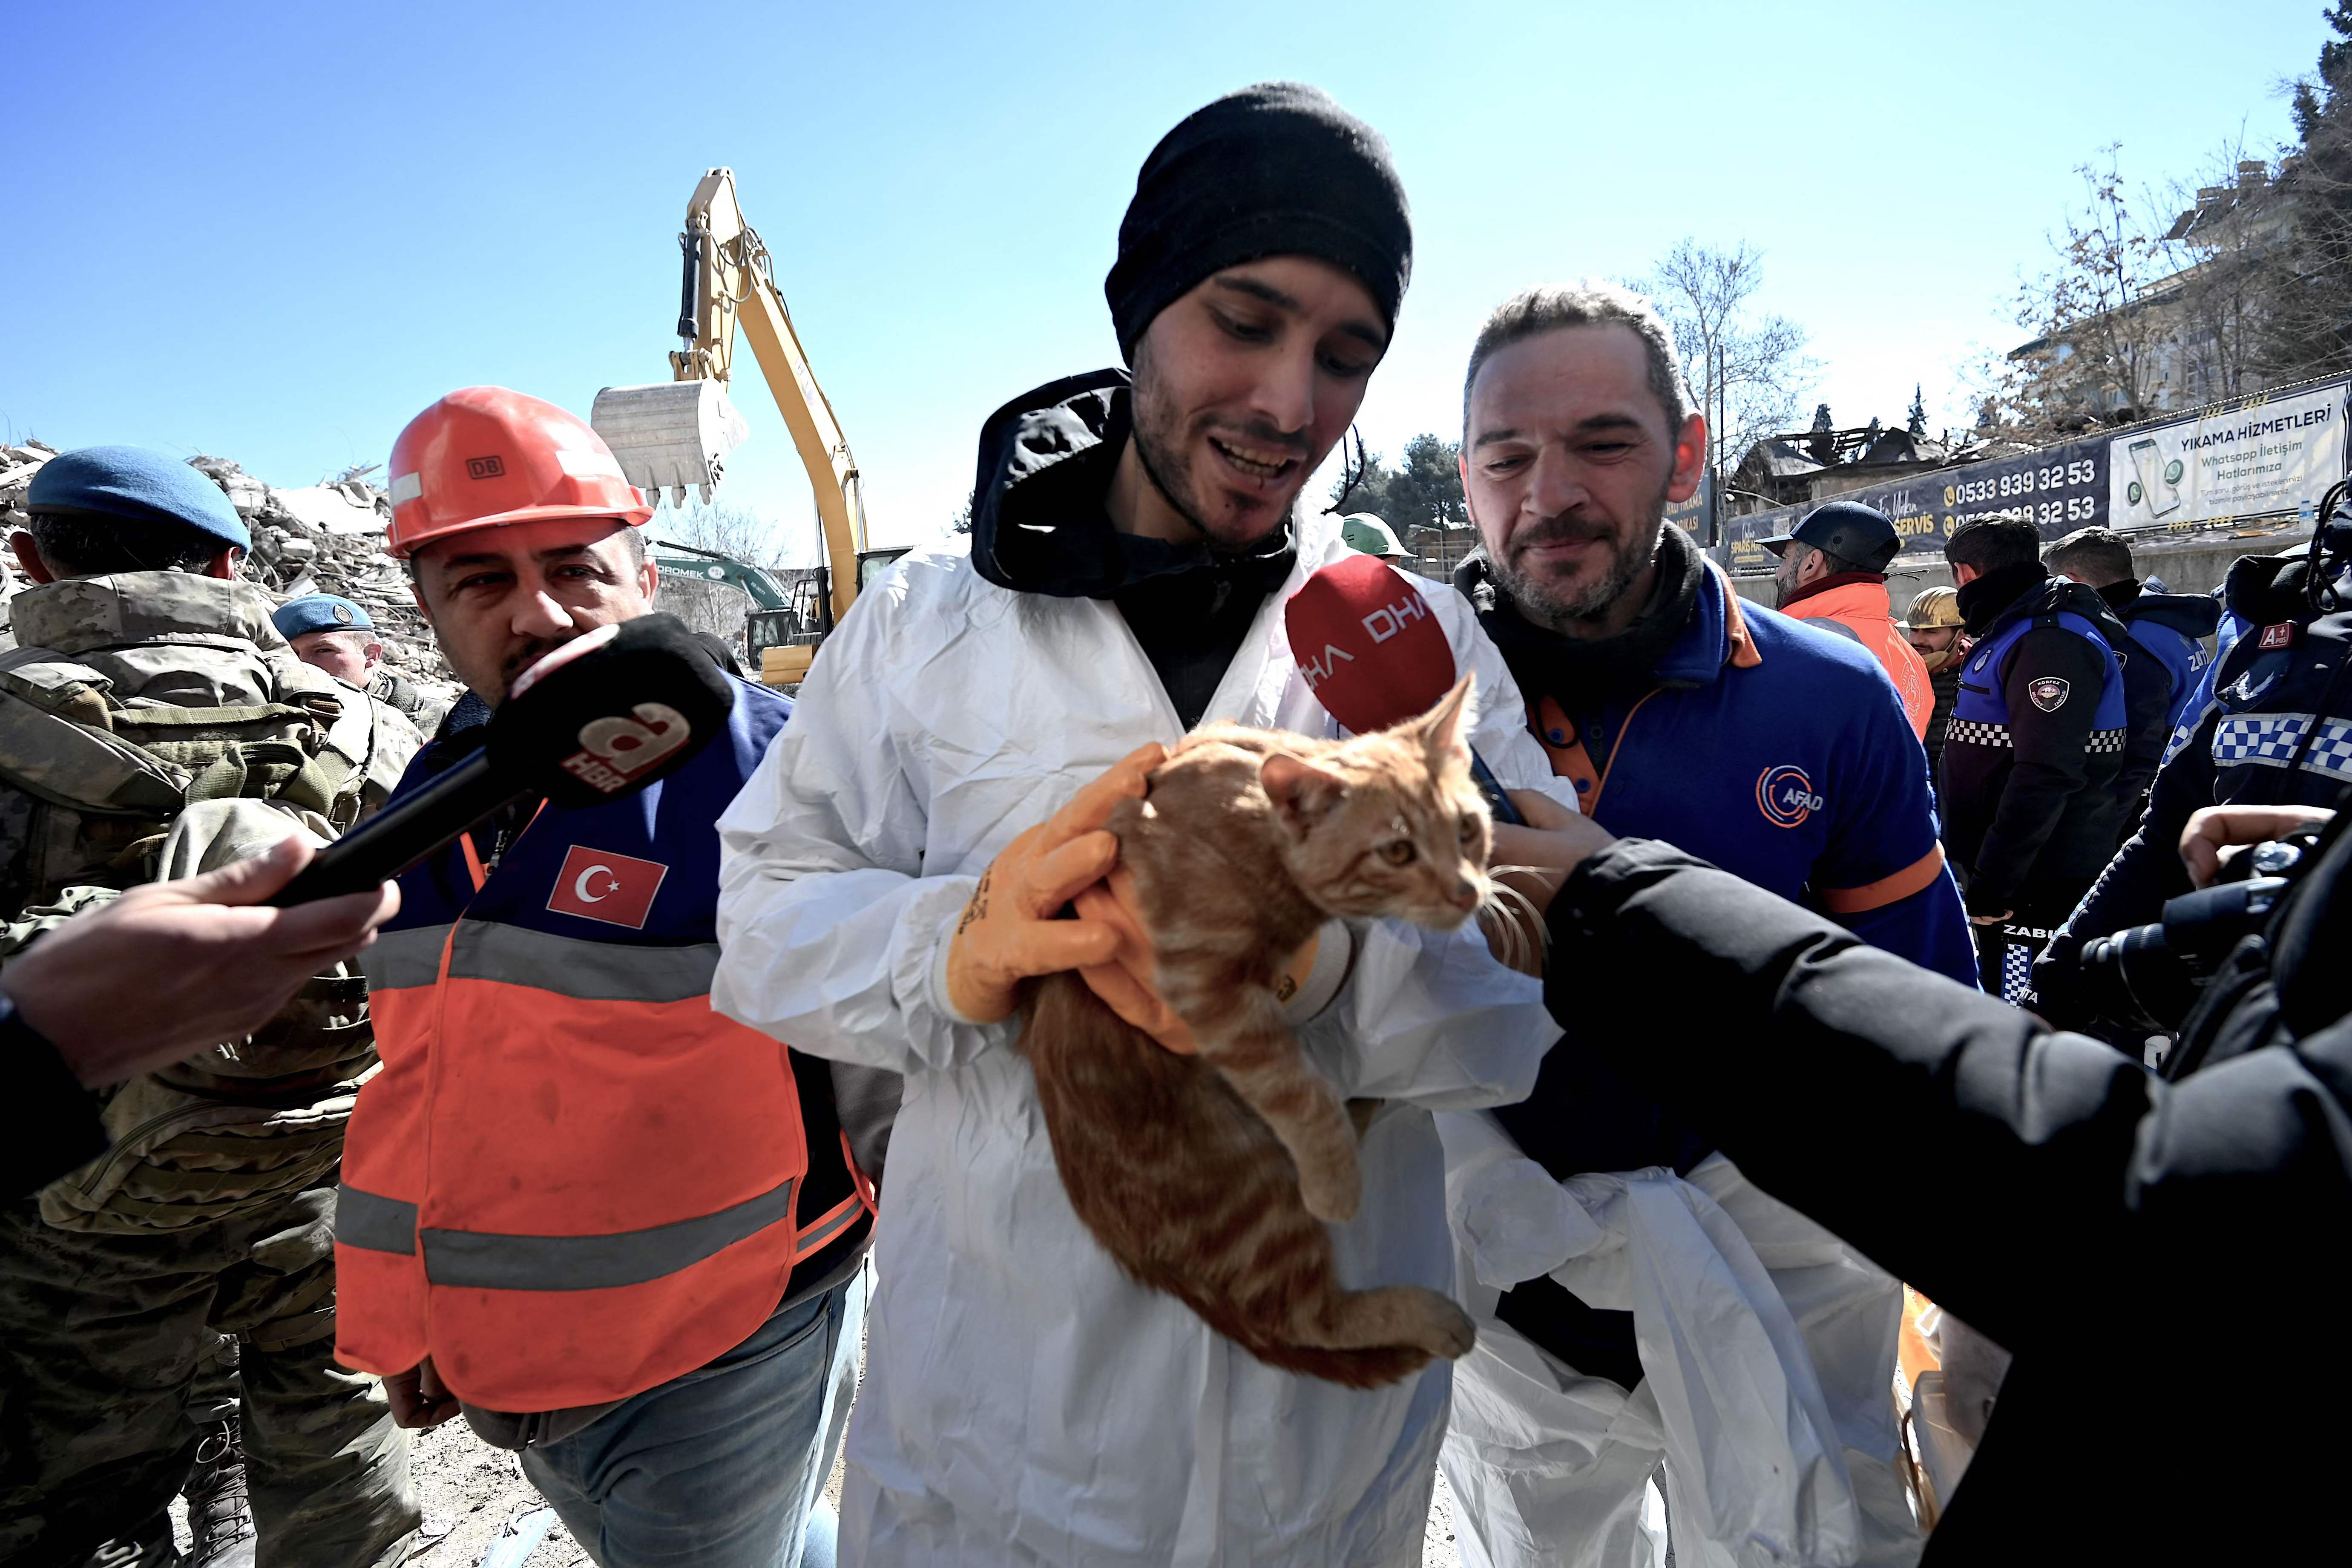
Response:
[[[741,322],[767,390],[776,397],[776,411],[800,449],[800,463],[809,470],[826,531],[826,564],[802,588],[804,604],[793,616],[797,630],[760,651],[762,682],[797,686],[816,646],[849,614],[858,590],[906,555],[906,548],[866,548],[858,463],[849,456],[849,437],[793,331],[793,313],[776,292],[767,244],[736,205],[734,169],[710,169],[694,186],[687,230],[677,235],[677,244],[684,252],[677,301],[677,336],[684,346],[670,350],[670,381],[604,388],[595,395],[588,423],[621,458],[628,482],[654,501],[661,498],[659,491],[670,491],[673,505],[684,505],[689,484],[708,501],[727,473],[727,454],[748,433],[727,400]]]

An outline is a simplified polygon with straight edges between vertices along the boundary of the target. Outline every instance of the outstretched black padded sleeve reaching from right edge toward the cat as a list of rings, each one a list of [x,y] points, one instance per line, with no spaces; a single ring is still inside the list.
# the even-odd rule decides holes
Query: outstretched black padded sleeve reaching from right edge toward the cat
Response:
[[[2352,1032],[2171,1086],[1646,842],[1592,853],[1550,931],[1555,1051],[1658,1093],[2011,1349],[2140,1291],[2173,1312],[2281,1288],[2352,1208],[2352,1124],[2326,1086],[2352,1081]]]

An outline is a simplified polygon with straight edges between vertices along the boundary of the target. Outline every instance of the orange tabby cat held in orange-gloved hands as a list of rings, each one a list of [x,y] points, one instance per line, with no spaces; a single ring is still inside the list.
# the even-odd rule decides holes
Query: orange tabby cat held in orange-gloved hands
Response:
[[[1486,804],[1463,677],[1428,715],[1352,741],[1214,724],[1110,818],[1157,985],[1200,1056],[1127,1025],[1073,976],[1028,994],[1021,1051],[1070,1206],[1141,1284],[1272,1366],[1355,1387],[1470,1349],[1421,1286],[1341,1288],[1324,1220],[1359,1199],[1359,1124],[1275,994],[1331,917],[1437,931],[1486,900]],[[1371,1110],[1359,1103],[1357,1110]]]

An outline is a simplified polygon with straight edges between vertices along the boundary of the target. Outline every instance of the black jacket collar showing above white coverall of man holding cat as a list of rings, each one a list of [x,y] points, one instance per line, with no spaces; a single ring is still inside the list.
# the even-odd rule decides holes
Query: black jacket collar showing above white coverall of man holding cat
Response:
[[[1251,550],[1120,534],[1103,496],[1131,430],[1127,371],[1115,369],[1049,381],[990,414],[971,484],[971,567],[1014,592],[1117,604],[1192,729],[1298,550],[1287,527]]]

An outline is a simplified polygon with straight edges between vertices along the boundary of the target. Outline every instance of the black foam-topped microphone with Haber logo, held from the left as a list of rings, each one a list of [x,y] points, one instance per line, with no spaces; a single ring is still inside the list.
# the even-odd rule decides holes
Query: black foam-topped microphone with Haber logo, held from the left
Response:
[[[480,750],[327,844],[266,903],[365,893],[517,799],[635,795],[715,741],[731,710],[734,686],[677,616],[600,625],[515,677]]]

